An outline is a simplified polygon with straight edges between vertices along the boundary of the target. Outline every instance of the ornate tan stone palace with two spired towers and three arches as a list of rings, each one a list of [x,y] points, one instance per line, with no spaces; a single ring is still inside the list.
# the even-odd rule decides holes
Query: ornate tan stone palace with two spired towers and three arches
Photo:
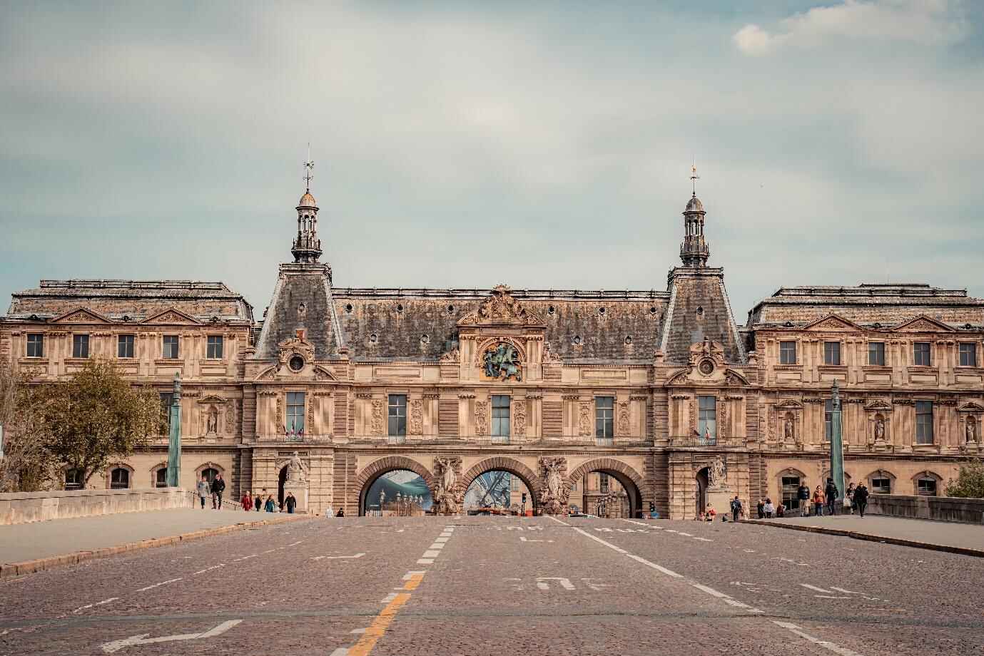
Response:
[[[222,472],[233,498],[277,494],[289,476],[309,509],[346,514],[398,469],[443,512],[493,470],[545,512],[600,474],[632,514],[693,517],[708,489],[789,504],[827,475],[834,381],[848,481],[942,494],[981,452],[984,301],[782,287],[739,326],[696,195],[666,291],[338,288],[310,193],[296,210],[262,320],[220,282],[42,280],[0,318],[0,359],[55,380],[110,358],[164,403],[179,374],[185,487]],[[154,437],[89,486],[163,485],[166,457]]]

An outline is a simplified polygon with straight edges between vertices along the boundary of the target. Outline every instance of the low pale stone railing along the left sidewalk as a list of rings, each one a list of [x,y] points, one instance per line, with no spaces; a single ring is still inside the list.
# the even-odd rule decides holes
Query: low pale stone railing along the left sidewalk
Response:
[[[0,494],[0,524],[192,507],[194,502],[195,493],[184,488],[15,492]]]

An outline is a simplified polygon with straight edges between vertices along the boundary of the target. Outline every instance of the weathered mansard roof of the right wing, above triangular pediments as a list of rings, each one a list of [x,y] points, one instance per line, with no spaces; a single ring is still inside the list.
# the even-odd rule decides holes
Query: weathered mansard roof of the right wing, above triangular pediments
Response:
[[[984,299],[926,283],[780,287],[749,312],[748,328],[802,328],[828,315],[868,328],[892,328],[926,316],[953,328],[984,326]]]

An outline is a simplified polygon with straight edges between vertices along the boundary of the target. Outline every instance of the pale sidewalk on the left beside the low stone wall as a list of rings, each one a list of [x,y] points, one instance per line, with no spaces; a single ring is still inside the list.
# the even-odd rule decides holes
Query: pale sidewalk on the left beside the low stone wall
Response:
[[[0,526],[0,577],[312,516],[170,508]]]

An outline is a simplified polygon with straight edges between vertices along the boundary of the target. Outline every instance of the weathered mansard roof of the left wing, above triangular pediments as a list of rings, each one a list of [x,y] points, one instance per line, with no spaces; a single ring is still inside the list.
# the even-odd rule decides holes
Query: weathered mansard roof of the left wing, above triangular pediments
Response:
[[[198,321],[252,325],[253,307],[222,282],[196,280],[41,280],[14,292],[7,320],[48,320],[88,309],[109,321],[145,321],[166,310]]]

